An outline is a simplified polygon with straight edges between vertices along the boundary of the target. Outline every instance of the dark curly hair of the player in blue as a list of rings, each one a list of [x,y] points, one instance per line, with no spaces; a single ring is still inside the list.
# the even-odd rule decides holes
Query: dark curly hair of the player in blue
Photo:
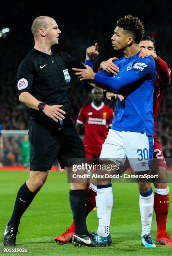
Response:
[[[140,43],[145,33],[142,21],[137,17],[132,17],[132,15],[125,15],[123,18],[117,20],[117,26],[123,28],[125,32],[131,33],[136,44]]]

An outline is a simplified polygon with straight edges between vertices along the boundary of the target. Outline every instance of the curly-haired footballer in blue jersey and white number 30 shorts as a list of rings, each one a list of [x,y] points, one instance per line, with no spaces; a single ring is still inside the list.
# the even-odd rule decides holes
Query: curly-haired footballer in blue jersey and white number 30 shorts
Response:
[[[117,21],[112,36],[112,46],[124,53],[124,57],[115,60],[119,68],[116,75],[92,70],[94,56],[86,56],[87,69],[73,69],[80,80],[87,80],[93,87],[109,88],[125,97],[117,99],[115,117],[105,143],[102,146],[101,160],[110,159],[124,164],[126,157],[134,172],[149,171],[153,157],[153,92],[156,80],[154,59],[139,58],[140,40],[144,34],[142,22],[137,17],[127,15]],[[87,65],[88,64],[88,65]],[[142,222],[141,241],[145,247],[155,247],[150,236],[153,212],[153,191],[149,182],[139,182],[140,214]],[[112,184],[110,179],[97,180],[97,217],[99,227],[95,239],[99,243],[110,245],[110,218],[113,206]]]

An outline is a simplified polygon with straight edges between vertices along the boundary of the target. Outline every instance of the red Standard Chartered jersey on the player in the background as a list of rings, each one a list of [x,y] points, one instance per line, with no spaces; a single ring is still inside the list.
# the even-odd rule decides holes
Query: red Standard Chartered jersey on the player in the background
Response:
[[[77,118],[77,123],[85,124],[84,146],[90,148],[102,148],[108,126],[112,126],[114,112],[104,102],[97,107],[92,102],[83,106]]]

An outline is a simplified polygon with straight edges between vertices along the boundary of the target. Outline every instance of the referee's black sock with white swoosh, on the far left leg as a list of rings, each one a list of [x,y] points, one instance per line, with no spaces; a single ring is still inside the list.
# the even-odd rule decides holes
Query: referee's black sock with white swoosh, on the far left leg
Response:
[[[20,224],[20,219],[27,209],[27,207],[30,205],[32,202],[33,198],[35,197],[37,192],[31,192],[26,183],[20,187],[17,197],[15,200],[15,205],[14,205],[14,210],[12,212],[12,216],[8,222],[9,225],[14,224],[15,226],[19,226]]]

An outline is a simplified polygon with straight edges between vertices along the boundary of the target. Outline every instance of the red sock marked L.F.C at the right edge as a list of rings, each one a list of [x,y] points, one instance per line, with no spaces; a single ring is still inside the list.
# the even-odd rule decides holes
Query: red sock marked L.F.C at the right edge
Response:
[[[157,232],[166,233],[167,215],[169,211],[169,193],[160,195],[155,192],[154,195],[154,210],[157,220]]]

